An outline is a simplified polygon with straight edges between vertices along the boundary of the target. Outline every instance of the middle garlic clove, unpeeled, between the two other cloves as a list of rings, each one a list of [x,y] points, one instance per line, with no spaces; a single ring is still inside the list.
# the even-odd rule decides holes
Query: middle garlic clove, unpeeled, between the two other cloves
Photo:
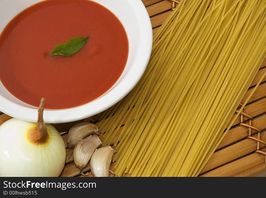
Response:
[[[80,169],[80,173],[89,163],[94,151],[102,146],[102,142],[98,136],[89,136],[76,144],[73,150],[73,161]]]

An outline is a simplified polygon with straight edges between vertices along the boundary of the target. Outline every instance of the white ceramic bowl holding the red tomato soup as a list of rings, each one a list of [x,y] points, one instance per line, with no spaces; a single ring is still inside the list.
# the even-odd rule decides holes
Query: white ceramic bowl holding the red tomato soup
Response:
[[[20,11],[40,1],[1,0],[0,32]],[[129,41],[129,55],[125,70],[111,89],[92,102],[70,109],[44,110],[46,123],[76,121],[108,109],[133,89],[148,64],[152,48],[152,27],[149,15],[141,0],[93,1],[111,10],[124,25]],[[18,119],[37,121],[37,108],[15,98],[5,89],[1,81],[0,111]]]

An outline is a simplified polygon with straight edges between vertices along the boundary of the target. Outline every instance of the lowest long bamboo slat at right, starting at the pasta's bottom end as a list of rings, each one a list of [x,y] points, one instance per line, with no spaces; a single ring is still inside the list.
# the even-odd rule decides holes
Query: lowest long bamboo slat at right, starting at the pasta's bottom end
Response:
[[[263,151],[265,151],[265,148],[263,149]],[[265,156],[258,153],[253,153],[222,167],[216,168],[215,170],[201,175],[201,177],[233,177],[244,171],[264,164],[264,161]]]

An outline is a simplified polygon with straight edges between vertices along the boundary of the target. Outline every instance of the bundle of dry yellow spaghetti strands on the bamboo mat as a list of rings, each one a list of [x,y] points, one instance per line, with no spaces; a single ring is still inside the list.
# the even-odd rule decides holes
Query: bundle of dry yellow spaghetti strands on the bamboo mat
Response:
[[[265,15],[266,0],[180,2],[139,83],[100,118],[117,176],[200,173],[266,57]]]

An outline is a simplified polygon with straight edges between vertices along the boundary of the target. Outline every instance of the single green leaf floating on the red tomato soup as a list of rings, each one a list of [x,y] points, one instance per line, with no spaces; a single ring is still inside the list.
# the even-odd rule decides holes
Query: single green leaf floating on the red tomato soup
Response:
[[[89,37],[75,37],[68,40],[65,44],[57,45],[50,53],[50,56],[70,57],[76,54],[87,43]]]

